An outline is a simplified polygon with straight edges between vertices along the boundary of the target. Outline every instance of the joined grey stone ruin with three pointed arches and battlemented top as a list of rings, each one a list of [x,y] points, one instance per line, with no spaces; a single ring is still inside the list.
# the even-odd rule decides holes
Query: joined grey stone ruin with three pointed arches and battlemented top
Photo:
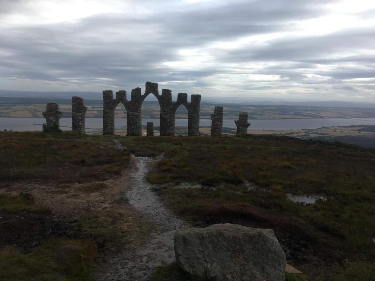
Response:
[[[107,135],[114,134],[114,114],[115,108],[122,103],[127,111],[127,135],[142,135],[142,114],[141,108],[144,99],[153,94],[160,105],[160,136],[174,136],[175,114],[178,106],[184,105],[188,112],[187,135],[199,135],[199,111],[201,95],[191,95],[190,103],[187,102],[187,94],[179,93],[177,102],[172,102],[172,91],[163,89],[159,95],[159,88],[156,83],[146,82],[145,93],[141,93],[141,88],[132,90],[130,100],[126,99],[126,91],[116,92],[116,98],[113,98],[113,91],[103,91],[103,133]]]

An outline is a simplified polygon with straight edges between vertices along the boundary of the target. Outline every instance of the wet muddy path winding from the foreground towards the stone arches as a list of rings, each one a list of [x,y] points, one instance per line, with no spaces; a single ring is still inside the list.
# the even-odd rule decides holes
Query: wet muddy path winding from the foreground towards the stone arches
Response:
[[[118,149],[126,149],[119,140],[115,140]],[[113,256],[102,272],[98,272],[95,281],[143,281],[149,280],[159,265],[174,260],[173,235],[176,229],[189,227],[189,224],[177,218],[160,202],[145,177],[150,166],[160,157],[136,157],[132,161],[136,169],[129,176],[132,188],[124,194],[124,199],[135,209],[145,214],[155,227],[149,241]]]

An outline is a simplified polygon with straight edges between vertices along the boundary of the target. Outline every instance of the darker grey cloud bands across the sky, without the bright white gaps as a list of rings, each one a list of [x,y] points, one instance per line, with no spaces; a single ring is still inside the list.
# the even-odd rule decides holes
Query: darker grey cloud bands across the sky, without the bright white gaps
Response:
[[[157,6],[157,1],[149,3]],[[240,1],[173,10],[174,4],[170,2],[167,12],[156,10],[144,17],[99,14],[75,22],[13,27],[0,34],[0,49],[6,52],[0,52],[0,77],[70,83],[83,87],[82,90],[89,86],[129,89],[145,81],[169,81],[171,87],[189,92],[193,88],[213,88],[208,78],[214,75],[269,74],[279,76],[280,81],[258,79],[233,87],[243,93],[294,87],[316,87],[319,91],[331,85],[334,90],[369,90],[360,82],[345,85],[342,79],[375,78],[375,56],[356,54],[357,50],[374,49],[375,32],[371,28],[325,36],[287,36],[267,45],[216,51],[209,64],[199,69],[164,64],[183,60],[180,49],[199,49],[244,36],[297,30],[298,26],[291,22],[323,15],[326,10],[321,7],[325,3]],[[338,55],[341,53],[349,55]],[[241,66],[252,63],[263,67]],[[239,67],[233,69],[226,64]],[[315,79],[308,74],[324,77]]]

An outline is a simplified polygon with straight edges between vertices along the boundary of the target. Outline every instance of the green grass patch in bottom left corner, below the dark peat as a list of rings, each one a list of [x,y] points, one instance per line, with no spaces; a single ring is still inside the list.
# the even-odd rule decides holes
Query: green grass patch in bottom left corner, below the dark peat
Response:
[[[89,281],[93,278],[95,246],[88,241],[56,239],[30,253],[0,251],[0,280]]]

